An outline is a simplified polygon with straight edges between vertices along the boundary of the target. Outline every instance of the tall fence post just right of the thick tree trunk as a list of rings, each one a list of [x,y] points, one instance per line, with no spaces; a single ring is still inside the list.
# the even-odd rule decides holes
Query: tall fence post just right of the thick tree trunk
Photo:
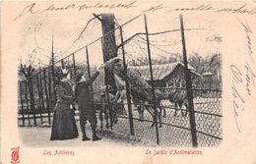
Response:
[[[121,36],[121,45],[122,45],[122,54],[123,54],[123,67],[124,67],[124,74],[125,74],[125,87],[126,87],[126,96],[127,96],[127,103],[128,103],[130,134],[131,134],[131,136],[134,136],[135,134],[134,134],[134,125],[133,125],[132,106],[131,106],[130,85],[129,85],[128,77],[127,77],[127,65],[126,65],[126,61],[125,61],[122,27],[120,27],[120,36]]]

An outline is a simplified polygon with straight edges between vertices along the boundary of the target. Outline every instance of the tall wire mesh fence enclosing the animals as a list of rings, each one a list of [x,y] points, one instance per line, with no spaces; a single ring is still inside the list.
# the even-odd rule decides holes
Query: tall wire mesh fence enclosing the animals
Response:
[[[19,125],[50,126],[61,68],[69,70],[72,79],[80,73],[90,78],[98,67],[96,59],[106,64],[91,87],[100,129],[161,146],[219,145],[221,80],[211,81],[210,74],[202,77],[205,70],[198,73],[202,59],[184,60],[178,21],[169,22],[170,30],[151,32],[151,20],[136,17],[123,26],[115,23],[115,29],[57,62],[52,54],[50,66],[37,68],[38,73],[19,83]]]

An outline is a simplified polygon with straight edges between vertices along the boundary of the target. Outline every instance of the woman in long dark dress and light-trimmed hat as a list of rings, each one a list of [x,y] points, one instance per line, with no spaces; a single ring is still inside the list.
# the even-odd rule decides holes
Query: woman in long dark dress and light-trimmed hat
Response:
[[[55,86],[57,102],[53,114],[51,140],[71,139],[78,137],[78,129],[74,112],[70,109],[72,103],[72,87],[69,84],[70,75],[64,70],[58,75],[58,83]]]

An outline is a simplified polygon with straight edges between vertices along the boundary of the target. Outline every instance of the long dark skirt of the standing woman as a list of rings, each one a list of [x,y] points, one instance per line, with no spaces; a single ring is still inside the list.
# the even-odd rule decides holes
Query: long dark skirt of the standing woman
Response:
[[[51,140],[71,139],[78,137],[74,112],[69,104],[56,103],[53,114]]]

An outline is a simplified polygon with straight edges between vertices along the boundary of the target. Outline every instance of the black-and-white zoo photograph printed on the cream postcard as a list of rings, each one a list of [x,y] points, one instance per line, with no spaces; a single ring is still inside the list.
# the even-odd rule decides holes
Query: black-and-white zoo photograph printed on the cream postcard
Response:
[[[90,134],[93,141],[135,146],[219,145],[222,36],[211,23],[186,24],[182,15],[160,26],[146,14],[88,17],[68,49],[58,44],[65,31],[49,27],[48,19],[24,25],[32,31],[18,66],[18,124],[26,143],[42,136],[87,141]],[[86,44],[87,34],[100,36]]]

